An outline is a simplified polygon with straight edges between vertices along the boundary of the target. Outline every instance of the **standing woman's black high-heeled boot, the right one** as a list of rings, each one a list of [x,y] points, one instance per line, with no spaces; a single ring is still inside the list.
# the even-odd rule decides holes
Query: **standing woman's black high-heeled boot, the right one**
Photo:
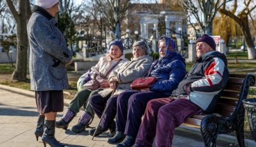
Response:
[[[44,134],[42,135],[42,142],[44,146],[48,143],[51,147],[64,147],[62,143],[56,141],[55,138],[55,121],[47,121],[45,120],[44,124]]]

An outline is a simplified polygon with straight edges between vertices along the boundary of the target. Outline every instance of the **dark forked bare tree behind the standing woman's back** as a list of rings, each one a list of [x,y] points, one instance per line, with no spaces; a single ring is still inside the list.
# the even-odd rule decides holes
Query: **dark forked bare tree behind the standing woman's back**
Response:
[[[28,62],[28,35],[26,32],[26,24],[31,16],[30,2],[29,0],[19,0],[18,11],[16,11],[13,1],[6,0],[6,2],[17,24],[17,58],[12,79],[26,81],[26,65]]]

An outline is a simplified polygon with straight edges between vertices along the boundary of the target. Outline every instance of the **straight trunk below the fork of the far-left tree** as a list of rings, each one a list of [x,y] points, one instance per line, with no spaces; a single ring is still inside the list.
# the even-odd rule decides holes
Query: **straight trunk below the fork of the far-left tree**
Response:
[[[28,35],[26,33],[26,16],[19,15],[17,22],[17,58],[12,79],[26,81],[26,65],[28,63]]]

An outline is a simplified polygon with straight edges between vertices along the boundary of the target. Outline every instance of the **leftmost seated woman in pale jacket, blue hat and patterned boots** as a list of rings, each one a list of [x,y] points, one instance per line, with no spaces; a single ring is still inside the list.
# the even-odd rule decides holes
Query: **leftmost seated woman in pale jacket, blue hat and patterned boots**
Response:
[[[78,93],[75,95],[75,98],[69,103],[69,107],[65,112],[64,116],[62,116],[60,121],[56,121],[56,128],[67,129],[68,124],[72,121],[72,119],[77,115],[81,106],[84,108],[84,112],[77,125],[73,126],[71,131],[75,133],[79,133],[85,130],[88,122],[91,118],[93,118],[94,112],[91,109],[91,106],[87,105],[87,100],[89,95],[92,93],[98,93],[103,88],[108,88],[108,76],[111,71],[119,68],[122,64],[128,61],[122,55],[124,46],[122,45],[122,41],[117,39],[115,41],[110,42],[109,44],[109,54],[107,56],[101,57],[97,65],[92,66],[89,75],[91,75],[92,79],[96,79],[100,81],[99,89],[95,91],[91,91],[90,89],[80,89],[78,86]],[[86,75],[86,74],[85,74]],[[79,85],[80,82],[78,82]]]

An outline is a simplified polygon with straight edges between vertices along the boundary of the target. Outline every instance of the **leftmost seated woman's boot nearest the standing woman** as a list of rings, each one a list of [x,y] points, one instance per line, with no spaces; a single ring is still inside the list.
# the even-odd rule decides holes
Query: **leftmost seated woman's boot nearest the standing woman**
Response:
[[[75,115],[77,115],[75,112],[71,111],[71,109],[67,109],[61,120],[56,121],[56,128],[67,129],[69,122],[75,118]]]

